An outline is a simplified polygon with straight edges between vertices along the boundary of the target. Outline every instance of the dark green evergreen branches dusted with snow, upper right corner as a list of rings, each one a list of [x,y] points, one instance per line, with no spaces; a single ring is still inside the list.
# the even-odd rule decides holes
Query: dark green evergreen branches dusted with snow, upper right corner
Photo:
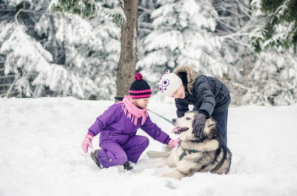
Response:
[[[297,46],[296,0],[252,0],[258,16],[268,14],[266,24],[250,36],[255,52],[270,46],[290,48]]]

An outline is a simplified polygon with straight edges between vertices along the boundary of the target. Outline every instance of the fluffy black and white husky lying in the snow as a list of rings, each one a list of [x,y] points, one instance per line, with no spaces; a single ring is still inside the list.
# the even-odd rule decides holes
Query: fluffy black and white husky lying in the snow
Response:
[[[175,132],[180,138],[177,147],[164,147],[163,152],[148,151],[150,158],[163,158],[151,167],[175,167],[175,171],[162,174],[162,176],[181,179],[192,176],[196,172],[211,172],[216,174],[227,174],[231,165],[232,154],[225,142],[219,135],[218,126],[215,120],[208,118],[205,121],[202,138],[196,138],[192,134],[192,121],[197,112],[188,112],[182,118],[172,119],[172,124],[178,128]],[[176,129],[177,130],[177,129]],[[179,160],[184,150],[195,150]]]

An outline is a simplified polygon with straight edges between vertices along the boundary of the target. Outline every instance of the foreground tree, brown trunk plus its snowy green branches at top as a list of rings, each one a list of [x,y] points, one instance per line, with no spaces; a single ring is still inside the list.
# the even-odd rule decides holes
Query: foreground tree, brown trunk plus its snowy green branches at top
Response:
[[[92,9],[85,10],[90,3],[92,4]],[[95,0],[52,0],[49,5],[49,10],[51,13],[67,12],[79,14],[80,16],[84,15],[84,18],[85,15],[87,17],[96,15],[96,10],[93,9],[93,4],[97,4]],[[106,13],[109,16],[112,16],[115,24],[122,29],[121,52],[117,66],[117,86],[115,96],[121,98],[128,93],[130,83],[134,81],[137,60],[138,0],[129,0],[125,2],[123,0],[118,0],[117,6],[117,9],[106,10]],[[83,11],[76,11],[77,7],[83,9]]]

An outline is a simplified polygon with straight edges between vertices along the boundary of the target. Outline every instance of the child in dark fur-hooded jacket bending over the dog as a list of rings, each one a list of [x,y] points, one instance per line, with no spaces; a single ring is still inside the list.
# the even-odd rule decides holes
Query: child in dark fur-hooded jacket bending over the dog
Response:
[[[206,118],[217,121],[220,135],[227,144],[228,108],[231,96],[228,88],[219,79],[198,75],[190,66],[181,66],[170,73],[163,74],[158,83],[162,94],[175,98],[177,117],[183,117],[189,111],[189,105],[198,111],[193,120],[192,133],[202,138]]]

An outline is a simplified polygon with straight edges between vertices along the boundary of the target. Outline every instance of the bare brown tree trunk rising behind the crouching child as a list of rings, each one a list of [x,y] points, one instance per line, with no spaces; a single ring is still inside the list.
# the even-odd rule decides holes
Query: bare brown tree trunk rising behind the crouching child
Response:
[[[121,54],[116,75],[116,97],[128,95],[134,81],[137,50],[138,0],[124,0],[124,13],[127,22],[121,31]],[[119,100],[115,100],[118,102]]]

